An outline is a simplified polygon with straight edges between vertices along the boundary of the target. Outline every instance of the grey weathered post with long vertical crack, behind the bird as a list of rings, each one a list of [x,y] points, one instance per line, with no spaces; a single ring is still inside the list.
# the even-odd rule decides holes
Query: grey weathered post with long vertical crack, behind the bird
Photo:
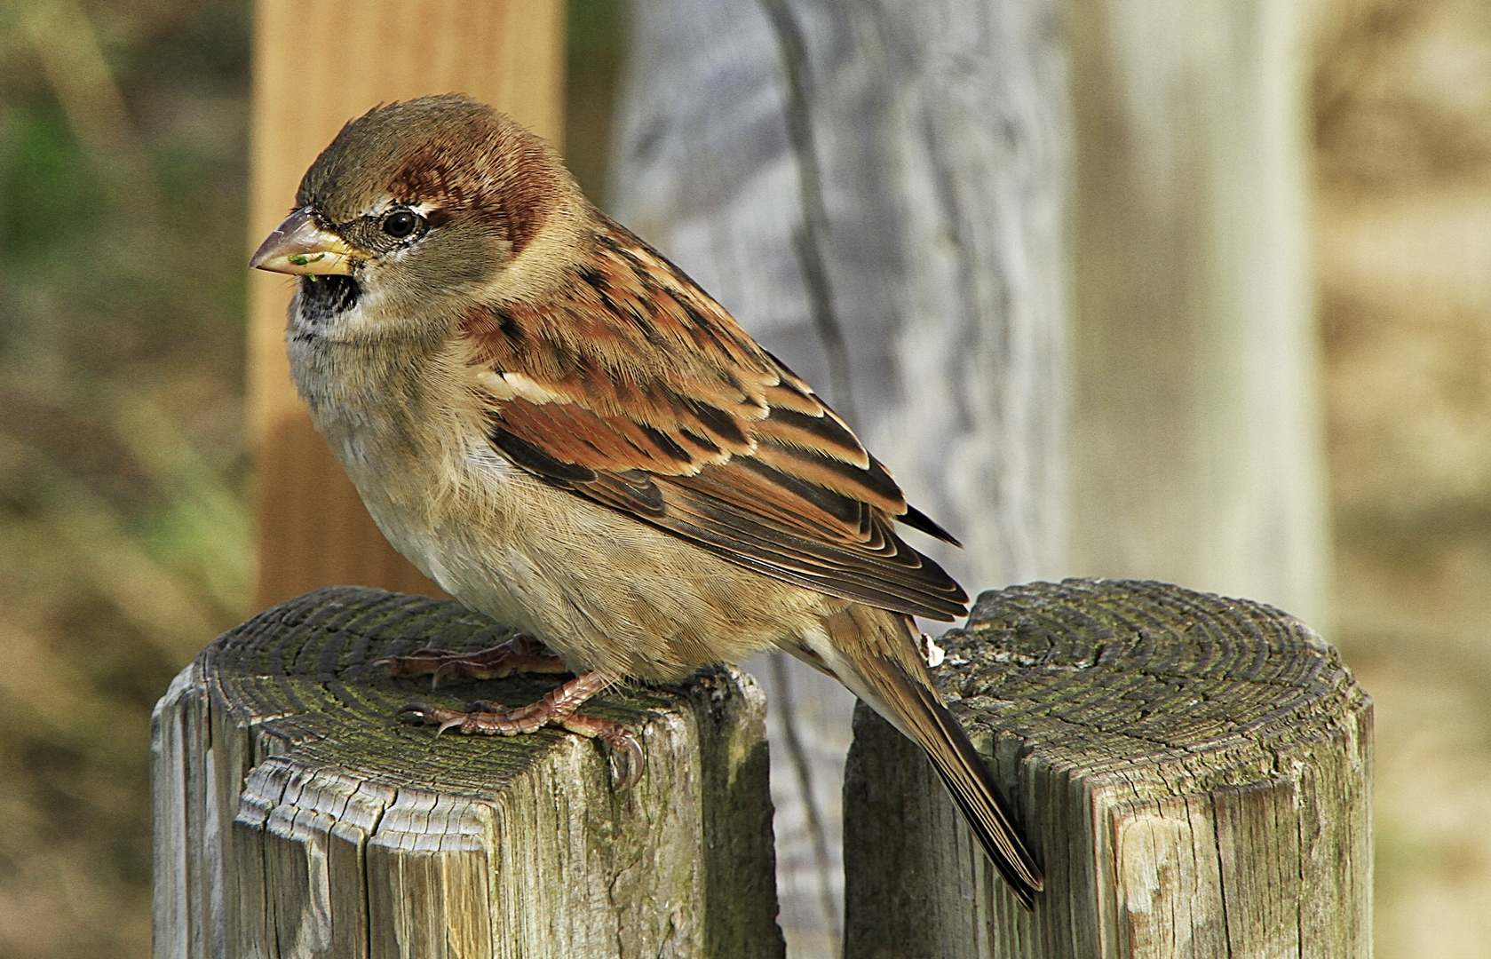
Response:
[[[1060,4],[649,0],[631,13],[611,212],[847,412],[968,544],[911,534],[918,547],[965,583],[1059,574]],[[814,258],[826,289],[810,282]],[[778,702],[772,670],[748,668]],[[836,917],[820,886],[836,899],[853,698],[795,662],[789,679],[813,707],[801,738],[832,850],[820,874],[778,710],[783,926],[796,955],[828,956]]]

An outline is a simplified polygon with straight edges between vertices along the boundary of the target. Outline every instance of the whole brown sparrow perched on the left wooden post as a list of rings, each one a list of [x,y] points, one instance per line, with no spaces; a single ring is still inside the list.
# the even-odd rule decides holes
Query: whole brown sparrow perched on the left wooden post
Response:
[[[813,389],[596,210],[558,154],[462,95],[377,107],[306,172],[252,264],[298,273],[300,395],[389,541],[520,638],[395,673],[574,671],[540,702],[406,707],[462,732],[781,649],[920,744],[1020,902],[1041,871],[918,653],[968,597],[896,535],[956,543]]]

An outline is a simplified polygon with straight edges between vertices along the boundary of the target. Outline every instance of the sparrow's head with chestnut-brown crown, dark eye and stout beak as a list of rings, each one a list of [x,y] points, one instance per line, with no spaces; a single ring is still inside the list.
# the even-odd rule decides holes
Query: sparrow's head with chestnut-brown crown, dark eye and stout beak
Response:
[[[568,260],[583,206],[546,142],[465,95],[423,97],[343,127],[249,265],[301,274],[303,304],[331,307],[318,315],[377,300],[358,312],[383,327],[438,322],[531,295]]]

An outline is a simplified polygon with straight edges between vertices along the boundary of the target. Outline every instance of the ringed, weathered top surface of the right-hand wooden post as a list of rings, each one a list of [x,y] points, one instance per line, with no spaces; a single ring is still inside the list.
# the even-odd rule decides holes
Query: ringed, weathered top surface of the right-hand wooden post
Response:
[[[1176,762],[1202,786],[1260,782],[1366,704],[1334,647],[1293,616],[1169,583],[986,592],[938,643],[938,686],[960,719],[1021,729],[1029,750],[1087,776]]]

